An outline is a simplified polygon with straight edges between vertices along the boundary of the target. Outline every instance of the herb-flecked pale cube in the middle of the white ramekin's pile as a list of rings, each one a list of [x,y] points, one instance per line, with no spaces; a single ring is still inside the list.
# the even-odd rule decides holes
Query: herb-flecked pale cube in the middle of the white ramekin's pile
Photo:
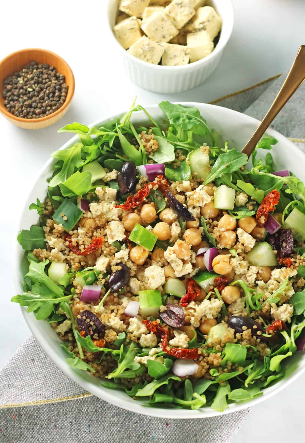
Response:
[[[167,43],[179,32],[164,12],[156,12],[149,20],[142,23],[141,28],[150,39],[157,43]]]

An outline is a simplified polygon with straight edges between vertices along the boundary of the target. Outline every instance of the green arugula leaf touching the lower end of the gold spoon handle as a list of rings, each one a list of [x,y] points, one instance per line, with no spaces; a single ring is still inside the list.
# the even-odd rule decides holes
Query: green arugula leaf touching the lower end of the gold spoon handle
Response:
[[[232,174],[247,164],[247,162],[248,156],[235,151],[235,149],[231,149],[224,154],[218,155],[218,158],[212,167],[212,171],[203,182],[203,185],[213,182],[217,177],[221,177],[224,174]]]

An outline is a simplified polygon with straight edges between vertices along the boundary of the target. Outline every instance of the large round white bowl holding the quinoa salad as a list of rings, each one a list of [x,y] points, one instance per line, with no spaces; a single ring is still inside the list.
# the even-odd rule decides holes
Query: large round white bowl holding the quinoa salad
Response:
[[[229,146],[236,149],[241,149],[244,146],[259,124],[259,121],[252,117],[248,117],[236,111],[214,105],[206,105],[201,103],[182,103],[182,105],[197,107],[202,116],[207,120],[210,128],[215,128],[217,130],[219,134],[219,143],[223,143],[224,140],[229,140]],[[162,124],[162,121],[164,121],[164,114],[157,105],[148,106],[146,109],[155,120]],[[107,120],[97,120],[92,125],[99,126],[105,121],[112,120],[115,117],[122,115],[122,113],[118,114],[117,116],[109,116]],[[136,124],[148,123],[147,117],[143,112],[134,113],[132,120],[133,123]],[[277,169],[290,169],[295,175],[305,181],[305,155],[293,143],[291,143],[277,131],[269,129],[268,135],[278,139],[278,144],[275,146],[274,151],[272,152]],[[61,149],[69,148],[78,140],[77,135],[72,137],[72,139],[64,144]],[[35,201],[36,197],[38,197],[41,201],[44,200],[47,190],[46,179],[50,177],[53,172],[53,162],[53,159],[49,159],[42,168],[42,171],[40,171],[38,179],[25,202],[23,214],[19,223],[19,229],[29,229],[31,225],[37,224],[37,214],[35,215],[34,211],[29,211],[27,208],[31,202]],[[23,276],[27,272],[26,262],[27,260],[25,260],[24,251],[16,242],[14,273],[15,288],[18,293],[19,291],[22,291]],[[144,401],[135,401],[121,391],[113,391],[101,387],[100,379],[93,377],[89,373],[84,373],[84,371],[72,369],[66,365],[65,358],[67,355],[65,354],[65,351],[62,350],[61,346],[59,346],[60,340],[57,337],[57,334],[50,328],[49,323],[46,321],[37,321],[33,313],[28,314],[25,308],[21,309],[27,325],[34,334],[34,337],[42,346],[43,350],[45,350],[46,354],[48,354],[53,360],[55,365],[57,365],[59,369],[61,369],[78,385],[87,391],[92,392],[97,397],[121,408],[128,409],[129,411],[163,418],[204,418],[221,415],[221,413],[215,412],[210,408],[203,408],[199,409],[198,411],[189,411],[186,409],[151,408],[145,406]],[[227,408],[224,413],[226,414],[229,412],[239,411],[240,409],[260,403],[261,401],[279,392],[281,389],[287,387],[305,371],[305,353],[297,352],[292,358],[289,359],[289,361],[287,359],[287,362],[289,365],[287,375],[284,379],[276,383],[274,386],[265,389],[263,391],[263,395],[255,400],[241,404],[230,404],[229,408]]]

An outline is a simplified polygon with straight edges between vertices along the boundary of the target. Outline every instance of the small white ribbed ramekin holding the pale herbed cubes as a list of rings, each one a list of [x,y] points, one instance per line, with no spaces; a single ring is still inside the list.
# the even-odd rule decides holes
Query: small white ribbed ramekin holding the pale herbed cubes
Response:
[[[212,54],[198,62],[183,66],[152,65],[125,51],[112,32],[118,12],[118,2],[119,0],[108,0],[107,16],[111,36],[118,51],[122,54],[127,77],[138,86],[161,93],[182,92],[204,82],[217,68],[233,30],[234,13],[231,0],[207,1],[207,5],[213,6],[221,16],[222,27],[219,42]]]

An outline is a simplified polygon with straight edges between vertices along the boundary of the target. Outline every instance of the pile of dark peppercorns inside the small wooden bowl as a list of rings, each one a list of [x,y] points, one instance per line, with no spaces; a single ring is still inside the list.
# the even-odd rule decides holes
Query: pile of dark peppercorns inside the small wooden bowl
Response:
[[[59,109],[67,97],[65,76],[54,66],[31,62],[4,81],[4,106],[16,117],[41,118]]]

